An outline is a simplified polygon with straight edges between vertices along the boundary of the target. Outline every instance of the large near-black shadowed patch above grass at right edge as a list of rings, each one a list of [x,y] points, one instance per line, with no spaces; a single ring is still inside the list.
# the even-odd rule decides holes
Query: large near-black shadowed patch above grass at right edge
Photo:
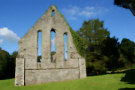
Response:
[[[125,76],[121,78],[121,81],[128,84],[135,84],[135,69],[125,71]]]

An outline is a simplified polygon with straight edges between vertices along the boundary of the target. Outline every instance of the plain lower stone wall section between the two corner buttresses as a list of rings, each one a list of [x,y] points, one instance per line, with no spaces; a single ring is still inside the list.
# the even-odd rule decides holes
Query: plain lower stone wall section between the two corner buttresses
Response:
[[[79,79],[79,69],[25,70],[25,85]]]

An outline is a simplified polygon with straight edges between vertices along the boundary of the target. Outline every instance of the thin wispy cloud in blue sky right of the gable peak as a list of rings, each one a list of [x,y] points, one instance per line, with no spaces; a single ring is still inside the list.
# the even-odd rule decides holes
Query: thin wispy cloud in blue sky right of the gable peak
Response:
[[[62,11],[64,14],[72,20],[77,19],[78,17],[93,17],[99,15],[101,13],[106,12],[108,9],[104,7],[93,7],[93,6],[86,6],[84,8],[79,8],[77,6],[70,6],[69,8],[64,8]]]

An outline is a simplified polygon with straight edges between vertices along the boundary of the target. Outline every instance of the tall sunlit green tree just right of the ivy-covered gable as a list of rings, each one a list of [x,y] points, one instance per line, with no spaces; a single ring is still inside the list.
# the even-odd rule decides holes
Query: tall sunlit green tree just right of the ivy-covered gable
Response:
[[[85,59],[88,72],[99,73],[104,70],[107,57],[101,55],[101,44],[110,33],[103,26],[104,22],[99,19],[84,21],[82,27],[77,31],[78,35],[86,43]]]

